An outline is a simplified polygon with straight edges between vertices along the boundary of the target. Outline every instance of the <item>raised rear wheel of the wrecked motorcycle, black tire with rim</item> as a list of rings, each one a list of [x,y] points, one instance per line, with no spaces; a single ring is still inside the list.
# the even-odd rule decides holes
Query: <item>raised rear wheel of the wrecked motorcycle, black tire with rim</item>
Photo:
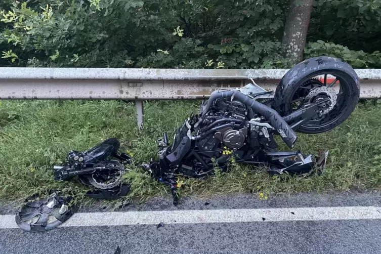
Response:
[[[322,77],[323,81],[316,77]],[[327,77],[331,79],[328,80]],[[341,60],[330,57],[312,58],[293,67],[283,76],[275,91],[274,108],[282,116],[288,115],[303,106],[305,98],[314,89],[333,88],[334,85],[338,89],[334,107],[322,116],[306,121],[297,130],[306,134],[327,132],[351,115],[360,97],[356,72]],[[318,96],[324,97],[324,93]],[[300,104],[295,105],[298,101]]]

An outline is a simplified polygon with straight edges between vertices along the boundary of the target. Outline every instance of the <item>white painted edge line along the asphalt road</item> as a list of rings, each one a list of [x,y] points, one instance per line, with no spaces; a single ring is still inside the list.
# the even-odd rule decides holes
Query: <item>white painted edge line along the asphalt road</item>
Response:
[[[127,211],[77,213],[61,227],[380,219],[381,207],[375,206]],[[18,228],[15,216],[1,215],[0,229],[9,228]]]

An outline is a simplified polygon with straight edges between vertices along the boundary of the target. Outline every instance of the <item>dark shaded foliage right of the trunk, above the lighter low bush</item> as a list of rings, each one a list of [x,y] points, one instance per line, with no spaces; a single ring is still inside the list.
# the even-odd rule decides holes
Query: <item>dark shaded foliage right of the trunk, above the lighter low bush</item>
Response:
[[[352,50],[380,50],[381,1],[316,1],[308,38],[332,41]]]

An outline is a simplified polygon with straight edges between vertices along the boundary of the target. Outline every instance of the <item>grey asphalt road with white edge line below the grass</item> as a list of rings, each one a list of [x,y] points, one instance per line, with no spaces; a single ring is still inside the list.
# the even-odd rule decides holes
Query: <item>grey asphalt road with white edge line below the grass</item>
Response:
[[[84,208],[66,226],[41,233],[16,228],[14,210],[3,204],[0,253],[114,254],[118,246],[120,253],[144,254],[381,253],[378,193],[206,201],[174,207],[170,199],[156,199],[118,213]],[[157,228],[160,221],[164,226]]]

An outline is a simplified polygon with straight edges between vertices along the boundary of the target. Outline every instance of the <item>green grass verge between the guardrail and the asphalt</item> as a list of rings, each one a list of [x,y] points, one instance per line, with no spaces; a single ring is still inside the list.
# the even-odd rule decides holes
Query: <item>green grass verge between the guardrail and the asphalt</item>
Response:
[[[1,101],[0,104],[0,199],[17,200],[34,193],[60,189],[83,202],[89,188],[75,180],[56,182],[52,165],[62,163],[70,149],[86,150],[116,137],[121,151],[131,151],[136,164],[125,175],[132,191],[117,203],[144,201],[169,193],[139,169],[156,154],[156,139],[174,132],[197,101],[161,101],[144,104],[144,130],[136,127],[135,106],[119,101]],[[305,153],[330,149],[322,176],[270,177],[263,168],[233,165],[227,174],[206,180],[185,181],[181,196],[207,198],[238,192],[264,196],[275,193],[327,190],[370,190],[381,187],[381,104],[360,103],[352,116],[333,131],[299,135],[298,148]],[[263,198],[262,195],[260,198]],[[115,202],[113,203],[115,204]]]

